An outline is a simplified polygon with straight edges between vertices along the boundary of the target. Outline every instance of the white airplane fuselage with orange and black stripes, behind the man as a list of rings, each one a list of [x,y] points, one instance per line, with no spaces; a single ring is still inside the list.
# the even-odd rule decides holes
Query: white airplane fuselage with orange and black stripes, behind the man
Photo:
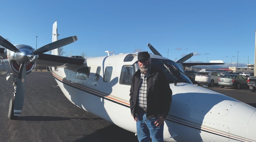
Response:
[[[137,53],[87,58],[76,69],[52,68],[64,95],[77,107],[136,133],[129,108]],[[168,60],[150,55],[155,61]],[[256,108],[231,97],[178,82],[165,120],[165,141],[256,141]]]

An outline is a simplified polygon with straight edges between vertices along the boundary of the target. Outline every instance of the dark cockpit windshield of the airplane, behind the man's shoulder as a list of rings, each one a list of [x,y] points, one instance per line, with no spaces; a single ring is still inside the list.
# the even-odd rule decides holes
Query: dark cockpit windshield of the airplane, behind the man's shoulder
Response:
[[[169,83],[189,83],[192,84],[189,77],[185,75],[183,69],[181,69],[177,63],[171,60],[154,59],[151,60],[151,66],[158,68],[165,72]],[[137,64],[138,68],[138,64]]]

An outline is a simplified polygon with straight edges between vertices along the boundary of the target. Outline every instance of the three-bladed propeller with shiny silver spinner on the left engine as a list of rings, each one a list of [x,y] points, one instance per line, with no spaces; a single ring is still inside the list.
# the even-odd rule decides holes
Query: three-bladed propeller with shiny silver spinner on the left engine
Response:
[[[10,51],[13,51],[15,53],[16,62],[21,64],[19,69],[18,79],[15,82],[15,85],[17,85],[17,88],[15,91],[14,116],[19,116],[21,114],[23,103],[24,103],[24,95],[25,95],[25,87],[26,87],[26,65],[34,60],[36,61],[35,55],[54,50],[56,48],[68,45],[75,41],[77,41],[77,36],[70,36],[67,38],[57,40],[45,46],[42,46],[34,51],[31,51],[26,48],[17,49],[5,38],[0,36],[0,45],[9,49]]]

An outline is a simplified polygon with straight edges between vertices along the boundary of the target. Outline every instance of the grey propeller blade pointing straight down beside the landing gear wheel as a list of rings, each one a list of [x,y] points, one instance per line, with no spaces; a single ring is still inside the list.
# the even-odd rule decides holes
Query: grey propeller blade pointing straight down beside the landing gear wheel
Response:
[[[15,102],[14,102],[14,116],[19,116],[22,111],[23,103],[24,103],[24,94],[26,87],[26,65],[25,61],[20,66],[18,80],[17,80],[17,88],[15,92]]]

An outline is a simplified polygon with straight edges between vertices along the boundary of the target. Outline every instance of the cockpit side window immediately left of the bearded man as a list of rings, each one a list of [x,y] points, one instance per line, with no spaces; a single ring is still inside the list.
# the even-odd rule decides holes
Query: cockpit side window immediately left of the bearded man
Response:
[[[132,66],[123,66],[120,75],[120,84],[131,85],[131,79],[133,75]]]

